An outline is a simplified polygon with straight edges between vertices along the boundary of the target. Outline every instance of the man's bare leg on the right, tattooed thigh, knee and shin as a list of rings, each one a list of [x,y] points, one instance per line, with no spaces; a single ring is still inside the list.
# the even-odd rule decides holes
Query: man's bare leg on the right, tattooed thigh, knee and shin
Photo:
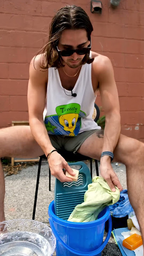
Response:
[[[102,131],[101,135],[98,131],[85,140],[78,153],[99,160],[102,144]],[[121,134],[114,150],[114,161],[126,165],[129,201],[137,216],[144,244],[144,144]]]

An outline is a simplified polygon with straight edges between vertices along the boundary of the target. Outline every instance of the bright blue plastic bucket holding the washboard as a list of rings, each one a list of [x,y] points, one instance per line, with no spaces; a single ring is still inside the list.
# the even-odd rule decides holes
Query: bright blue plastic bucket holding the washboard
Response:
[[[112,220],[109,207],[106,207],[93,222],[69,222],[58,218],[54,212],[54,201],[48,208],[50,227],[57,239],[57,256],[101,256],[110,239]],[[108,233],[103,242],[105,222],[108,220]]]

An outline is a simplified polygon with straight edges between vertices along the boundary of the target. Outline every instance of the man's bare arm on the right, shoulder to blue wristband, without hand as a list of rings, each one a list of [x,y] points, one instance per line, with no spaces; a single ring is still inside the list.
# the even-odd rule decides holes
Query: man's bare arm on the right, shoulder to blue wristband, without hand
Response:
[[[121,131],[121,117],[119,113],[118,92],[114,80],[113,68],[108,58],[104,60],[103,69],[99,75],[99,81],[102,106],[106,116],[102,151],[113,152]]]

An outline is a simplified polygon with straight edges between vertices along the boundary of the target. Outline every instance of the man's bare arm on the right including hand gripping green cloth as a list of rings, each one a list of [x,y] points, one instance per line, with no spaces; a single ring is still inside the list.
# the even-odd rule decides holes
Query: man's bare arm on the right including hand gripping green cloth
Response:
[[[111,61],[107,57],[103,57],[98,80],[100,84],[102,106],[106,116],[102,152],[113,152],[121,131],[121,118],[113,68]],[[101,175],[105,178],[112,191],[115,191],[114,185],[116,185],[119,190],[122,190],[121,183],[112,169],[110,156],[103,156],[101,158],[100,170]]]

